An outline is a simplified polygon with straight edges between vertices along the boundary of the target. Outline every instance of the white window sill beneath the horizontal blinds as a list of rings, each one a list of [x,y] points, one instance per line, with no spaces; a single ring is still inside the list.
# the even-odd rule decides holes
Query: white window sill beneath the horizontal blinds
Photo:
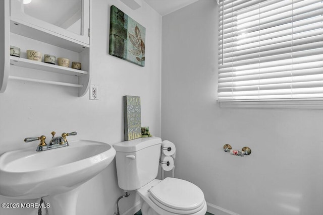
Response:
[[[323,110],[322,100],[312,101],[218,101],[221,108],[316,109]]]

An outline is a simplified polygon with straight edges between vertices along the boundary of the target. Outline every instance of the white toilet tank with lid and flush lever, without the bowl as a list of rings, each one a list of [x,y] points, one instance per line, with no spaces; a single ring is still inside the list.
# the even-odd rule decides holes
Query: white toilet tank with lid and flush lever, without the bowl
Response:
[[[118,185],[123,190],[136,190],[156,178],[161,139],[143,137],[114,145]]]

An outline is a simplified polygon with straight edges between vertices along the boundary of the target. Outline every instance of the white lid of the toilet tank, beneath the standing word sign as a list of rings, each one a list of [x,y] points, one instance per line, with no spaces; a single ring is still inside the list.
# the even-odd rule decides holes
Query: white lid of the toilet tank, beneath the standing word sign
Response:
[[[161,144],[160,137],[142,137],[129,141],[118,142],[113,147],[117,152],[137,152],[147,147]]]

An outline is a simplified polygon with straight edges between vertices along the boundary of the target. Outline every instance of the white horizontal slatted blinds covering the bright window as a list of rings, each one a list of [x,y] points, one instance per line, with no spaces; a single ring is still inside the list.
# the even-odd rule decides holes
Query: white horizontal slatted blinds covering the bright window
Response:
[[[219,4],[218,100],[323,99],[322,0]]]

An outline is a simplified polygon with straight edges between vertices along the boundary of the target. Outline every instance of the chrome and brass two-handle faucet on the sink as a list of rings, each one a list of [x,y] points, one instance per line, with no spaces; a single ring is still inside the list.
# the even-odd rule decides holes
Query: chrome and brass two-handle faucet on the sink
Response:
[[[35,140],[40,140],[39,145],[37,146],[36,151],[45,151],[45,150],[50,150],[50,149],[56,149],[56,148],[61,148],[61,147],[68,147],[69,142],[67,141],[66,137],[69,135],[76,135],[77,132],[71,132],[71,133],[62,133],[62,136],[57,136],[55,137],[56,132],[52,131],[51,135],[52,138],[49,141],[49,145],[46,144],[45,139],[46,136],[41,135],[40,137],[27,137],[24,139],[25,142],[31,142]]]

